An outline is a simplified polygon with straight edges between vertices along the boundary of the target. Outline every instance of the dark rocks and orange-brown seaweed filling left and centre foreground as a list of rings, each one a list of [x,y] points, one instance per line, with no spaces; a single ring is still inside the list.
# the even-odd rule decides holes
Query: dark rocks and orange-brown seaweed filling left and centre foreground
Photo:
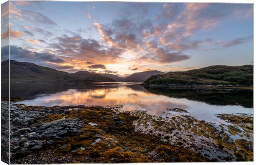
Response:
[[[194,151],[135,131],[118,107],[11,104],[12,164],[207,161]],[[179,110],[180,111],[180,110]]]

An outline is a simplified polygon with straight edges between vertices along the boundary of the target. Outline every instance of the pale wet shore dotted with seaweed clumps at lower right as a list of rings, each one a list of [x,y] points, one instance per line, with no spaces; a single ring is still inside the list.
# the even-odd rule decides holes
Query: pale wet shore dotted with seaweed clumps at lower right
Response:
[[[183,113],[172,118],[145,111],[133,111],[131,115],[139,117],[133,123],[137,132],[154,134],[170,144],[190,148],[211,161],[253,161],[252,115],[218,114],[224,121],[217,125]]]

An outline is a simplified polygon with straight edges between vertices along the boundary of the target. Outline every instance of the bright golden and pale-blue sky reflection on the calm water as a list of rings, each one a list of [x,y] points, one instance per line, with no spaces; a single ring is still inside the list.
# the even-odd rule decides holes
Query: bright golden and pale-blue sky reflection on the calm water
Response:
[[[253,108],[238,105],[212,105],[203,101],[168,97],[148,92],[143,86],[133,83],[91,83],[65,87],[51,94],[39,93],[19,103],[38,106],[123,105],[123,111],[142,110],[160,116],[173,115],[166,113],[166,108],[182,108],[195,118],[213,123],[220,121],[216,118],[218,113],[253,113]]]

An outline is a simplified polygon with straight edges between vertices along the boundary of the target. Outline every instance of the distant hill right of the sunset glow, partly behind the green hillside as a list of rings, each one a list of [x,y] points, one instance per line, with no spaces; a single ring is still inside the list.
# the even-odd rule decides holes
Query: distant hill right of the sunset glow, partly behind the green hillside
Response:
[[[164,72],[160,71],[145,71],[145,72],[138,72],[133,73],[131,75],[128,75],[124,78],[124,82],[144,82],[152,75],[161,75],[164,74]]]

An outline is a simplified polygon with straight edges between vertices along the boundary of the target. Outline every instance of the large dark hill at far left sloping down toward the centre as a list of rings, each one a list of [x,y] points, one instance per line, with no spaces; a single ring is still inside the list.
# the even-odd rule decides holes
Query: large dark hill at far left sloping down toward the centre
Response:
[[[8,81],[9,61],[1,62],[1,79]],[[101,76],[101,75],[100,75]],[[10,60],[10,80],[11,82],[43,82],[43,83],[67,83],[67,82],[100,82],[99,76],[92,74],[91,78],[79,77],[67,72],[39,66],[28,62],[18,62]],[[102,76],[103,77],[103,76]],[[101,78],[102,78],[101,77]],[[109,78],[105,77],[109,80]]]

